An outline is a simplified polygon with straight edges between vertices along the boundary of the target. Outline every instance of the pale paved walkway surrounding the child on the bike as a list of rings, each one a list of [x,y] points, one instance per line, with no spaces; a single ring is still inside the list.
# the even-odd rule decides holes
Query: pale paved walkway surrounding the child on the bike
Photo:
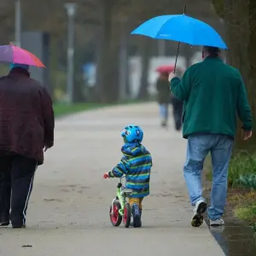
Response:
[[[119,132],[128,123],[143,127],[154,160],[142,229],[112,227],[108,211],[118,180],[102,178],[119,161]],[[172,124],[160,128],[156,104],[79,113],[55,126],[55,147],[36,175],[28,228],[0,229],[1,256],[224,255],[206,224],[190,226],[182,171],[186,142]]]

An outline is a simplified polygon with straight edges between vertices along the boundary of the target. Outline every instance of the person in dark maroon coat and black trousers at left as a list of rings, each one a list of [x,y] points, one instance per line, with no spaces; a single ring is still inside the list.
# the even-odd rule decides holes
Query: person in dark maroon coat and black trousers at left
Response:
[[[28,69],[11,64],[0,78],[0,225],[13,228],[26,227],[35,171],[54,145],[51,98]]]

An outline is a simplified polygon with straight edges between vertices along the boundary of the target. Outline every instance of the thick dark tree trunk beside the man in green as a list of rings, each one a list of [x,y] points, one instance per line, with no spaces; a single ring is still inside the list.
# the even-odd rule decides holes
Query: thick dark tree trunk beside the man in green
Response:
[[[218,15],[221,15],[227,26],[229,45],[228,62],[237,67],[247,86],[247,95],[252,108],[253,119],[256,118],[255,84],[256,84],[256,35],[255,0],[212,0]],[[256,137],[243,142],[241,140],[241,122],[238,120],[235,149],[251,149],[256,145]],[[255,133],[255,129],[254,129]]]

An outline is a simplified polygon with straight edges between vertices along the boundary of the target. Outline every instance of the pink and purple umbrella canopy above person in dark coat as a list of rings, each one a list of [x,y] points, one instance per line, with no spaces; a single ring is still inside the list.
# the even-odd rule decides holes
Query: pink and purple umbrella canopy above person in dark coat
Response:
[[[0,46],[0,62],[26,64],[29,66],[45,67],[44,64],[31,52],[20,47],[10,45]]]

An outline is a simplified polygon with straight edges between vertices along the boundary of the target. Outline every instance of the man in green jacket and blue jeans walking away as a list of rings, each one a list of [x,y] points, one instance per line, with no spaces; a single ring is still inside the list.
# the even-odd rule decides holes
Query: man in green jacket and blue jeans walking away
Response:
[[[236,118],[241,119],[244,140],[252,137],[253,121],[247,90],[235,67],[219,58],[215,47],[203,48],[204,61],[187,69],[180,80],[171,73],[174,96],[184,102],[183,137],[188,139],[183,172],[194,215],[191,225],[203,223],[207,203],[202,196],[201,171],[209,152],[212,155],[212,195],[207,214],[211,225],[224,225],[228,167],[236,135]]]

